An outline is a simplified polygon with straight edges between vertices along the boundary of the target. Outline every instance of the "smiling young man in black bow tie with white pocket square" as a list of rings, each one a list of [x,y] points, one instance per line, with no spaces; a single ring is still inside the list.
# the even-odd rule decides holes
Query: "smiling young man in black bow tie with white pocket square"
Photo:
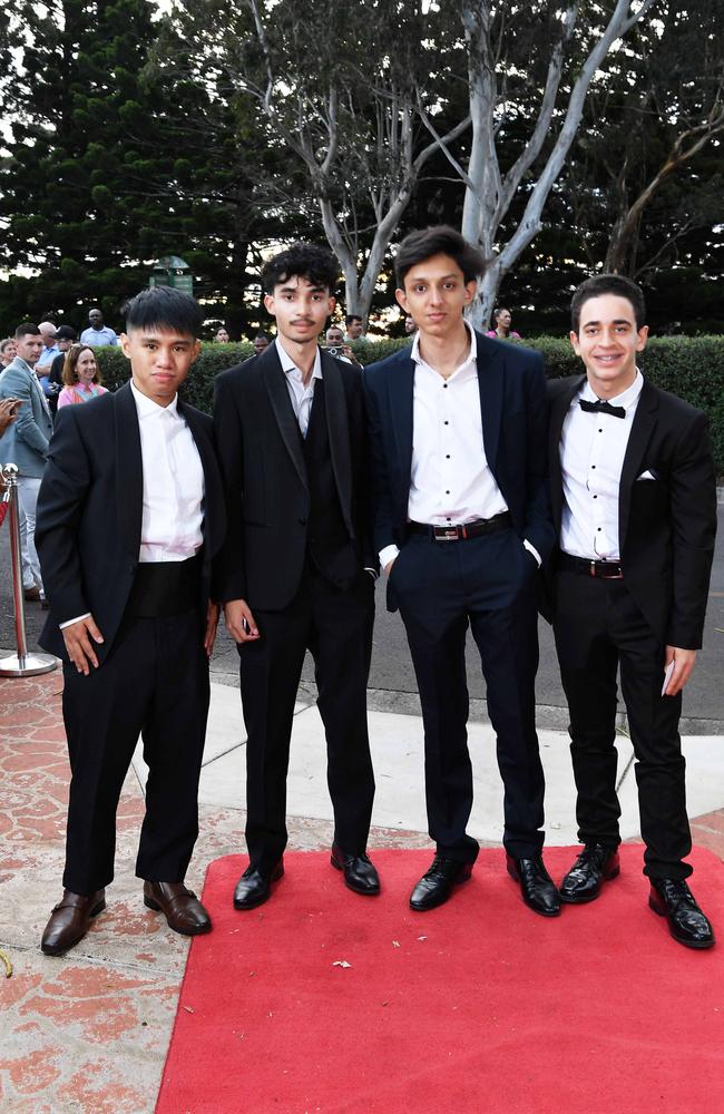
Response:
[[[640,289],[598,275],[571,303],[585,377],[550,383],[549,460],[559,551],[550,599],[570,711],[584,850],[564,901],[598,897],[618,874],[616,673],[632,743],[650,908],[674,939],[708,948],[684,859],[692,848],[678,721],[702,645],[716,534],[706,416],[645,380]]]

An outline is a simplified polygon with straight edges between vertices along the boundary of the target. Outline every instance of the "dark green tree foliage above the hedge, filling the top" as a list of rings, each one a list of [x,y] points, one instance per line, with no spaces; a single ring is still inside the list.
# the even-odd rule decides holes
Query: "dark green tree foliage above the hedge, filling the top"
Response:
[[[460,170],[471,154],[461,12],[471,7],[179,0],[164,13],[148,0],[6,6],[0,335],[25,317],[82,328],[96,303],[118,326],[120,304],[146,284],[153,262],[176,254],[190,264],[207,335],[224,321],[233,338],[250,336],[265,321],[264,253],[297,237],[333,240],[332,226],[360,285],[372,261],[372,313],[387,311],[390,255],[378,260],[372,248],[393,199],[402,193],[407,208],[393,222],[392,244],[413,227],[461,224]],[[569,6],[487,7],[505,176],[530,143]],[[578,6],[549,134],[496,250],[522,218],[576,68],[613,8],[613,0]],[[573,289],[615,256],[650,294],[658,335],[724,331],[723,28],[721,0],[661,0],[597,72],[542,231],[499,290],[524,336],[565,334]],[[713,138],[672,163],[682,137],[698,143],[717,119]],[[448,153],[438,148],[418,164],[433,133],[458,124]],[[679,154],[687,149],[683,143]],[[628,226],[636,199],[669,166]]]

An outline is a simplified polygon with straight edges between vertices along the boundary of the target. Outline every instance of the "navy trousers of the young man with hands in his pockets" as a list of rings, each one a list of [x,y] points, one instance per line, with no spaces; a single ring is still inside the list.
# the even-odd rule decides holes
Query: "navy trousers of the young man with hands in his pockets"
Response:
[[[430,837],[440,854],[473,862],[466,832],[472,807],[468,752],[468,625],[480,652],[488,712],[505,786],[503,843],[515,857],[544,841],[544,772],[538,752],[535,557],[511,530],[436,543],[412,535],[390,573],[418,681],[424,723]]]

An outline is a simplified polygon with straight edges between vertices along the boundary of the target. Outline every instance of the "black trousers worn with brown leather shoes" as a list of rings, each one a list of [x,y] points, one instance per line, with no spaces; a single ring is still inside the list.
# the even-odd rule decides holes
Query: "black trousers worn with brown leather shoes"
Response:
[[[127,616],[89,676],[63,666],[71,782],[63,886],[92,893],[114,877],[116,809],[136,743],[149,768],[136,873],[183,881],[198,836],[209,685],[197,607]]]

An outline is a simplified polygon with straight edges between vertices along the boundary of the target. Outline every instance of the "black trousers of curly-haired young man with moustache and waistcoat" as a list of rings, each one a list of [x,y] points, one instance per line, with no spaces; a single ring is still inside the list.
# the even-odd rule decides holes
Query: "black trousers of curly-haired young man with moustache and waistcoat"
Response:
[[[255,610],[254,618],[261,638],[238,647],[251,862],[268,871],[286,847],[290,737],[306,649],[326,735],[334,840],[348,854],[362,854],[374,800],[366,721],[374,580],[360,569],[352,586],[341,588],[309,561],[292,603],[277,612]]]

